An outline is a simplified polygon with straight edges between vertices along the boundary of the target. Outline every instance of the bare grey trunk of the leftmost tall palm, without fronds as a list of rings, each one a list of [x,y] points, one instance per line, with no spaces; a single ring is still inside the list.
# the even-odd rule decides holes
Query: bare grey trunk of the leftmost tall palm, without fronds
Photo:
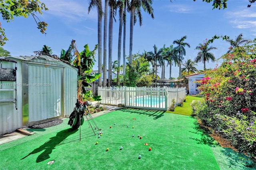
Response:
[[[101,4],[101,3],[100,3]],[[102,8],[102,6],[100,6]],[[98,9],[98,73],[102,73],[101,65],[102,65],[102,16],[100,15]],[[102,76],[100,75],[98,79],[98,86],[102,86]]]

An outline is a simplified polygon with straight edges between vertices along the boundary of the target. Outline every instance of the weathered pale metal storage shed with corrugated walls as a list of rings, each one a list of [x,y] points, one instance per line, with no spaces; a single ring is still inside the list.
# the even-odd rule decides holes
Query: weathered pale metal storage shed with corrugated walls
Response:
[[[12,99],[0,103],[0,134],[70,115],[77,98],[78,69],[49,56],[5,59],[16,62],[16,81],[0,80],[1,89],[15,92],[11,95],[10,91],[0,90],[0,99],[7,100],[8,95]],[[14,66],[10,61],[1,61],[1,68],[4,67]]]

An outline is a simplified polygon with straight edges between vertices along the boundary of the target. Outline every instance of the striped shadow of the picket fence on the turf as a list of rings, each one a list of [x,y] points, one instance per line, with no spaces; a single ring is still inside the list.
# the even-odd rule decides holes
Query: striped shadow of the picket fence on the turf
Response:
[[[147,115],[148,117],[154,117],[153,119],[159,119],[164,116],[165,111],[148,111],[148,110],[141,110],[141,109],[122,109],[120,111],[128,112],[128,113],[136,113],[139,115]]]

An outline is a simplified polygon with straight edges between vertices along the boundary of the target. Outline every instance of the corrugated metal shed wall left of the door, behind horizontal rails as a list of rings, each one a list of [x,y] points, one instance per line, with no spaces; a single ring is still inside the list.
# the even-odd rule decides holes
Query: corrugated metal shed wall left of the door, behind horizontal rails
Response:
[[[2,68],[15,69],[16,63],[2,61]],[[17,70],[18,71],[18,70]],[[18,78],[17,78],[18,79]],[[1,89],[18,89],[17,81],[0,81]],[[0,91],[0,99],[16,99],[16,91]],[[22,114],[12,102],[0,103],[0,134],[13,132],[22,127]]]

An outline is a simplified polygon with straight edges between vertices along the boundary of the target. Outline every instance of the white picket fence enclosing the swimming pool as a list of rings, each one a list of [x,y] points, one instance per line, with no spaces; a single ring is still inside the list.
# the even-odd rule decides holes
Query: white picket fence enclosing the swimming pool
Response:
[[[167,111],[172,99],[176,105],[186,97],[186,87],[98,87],[101,104]]]

